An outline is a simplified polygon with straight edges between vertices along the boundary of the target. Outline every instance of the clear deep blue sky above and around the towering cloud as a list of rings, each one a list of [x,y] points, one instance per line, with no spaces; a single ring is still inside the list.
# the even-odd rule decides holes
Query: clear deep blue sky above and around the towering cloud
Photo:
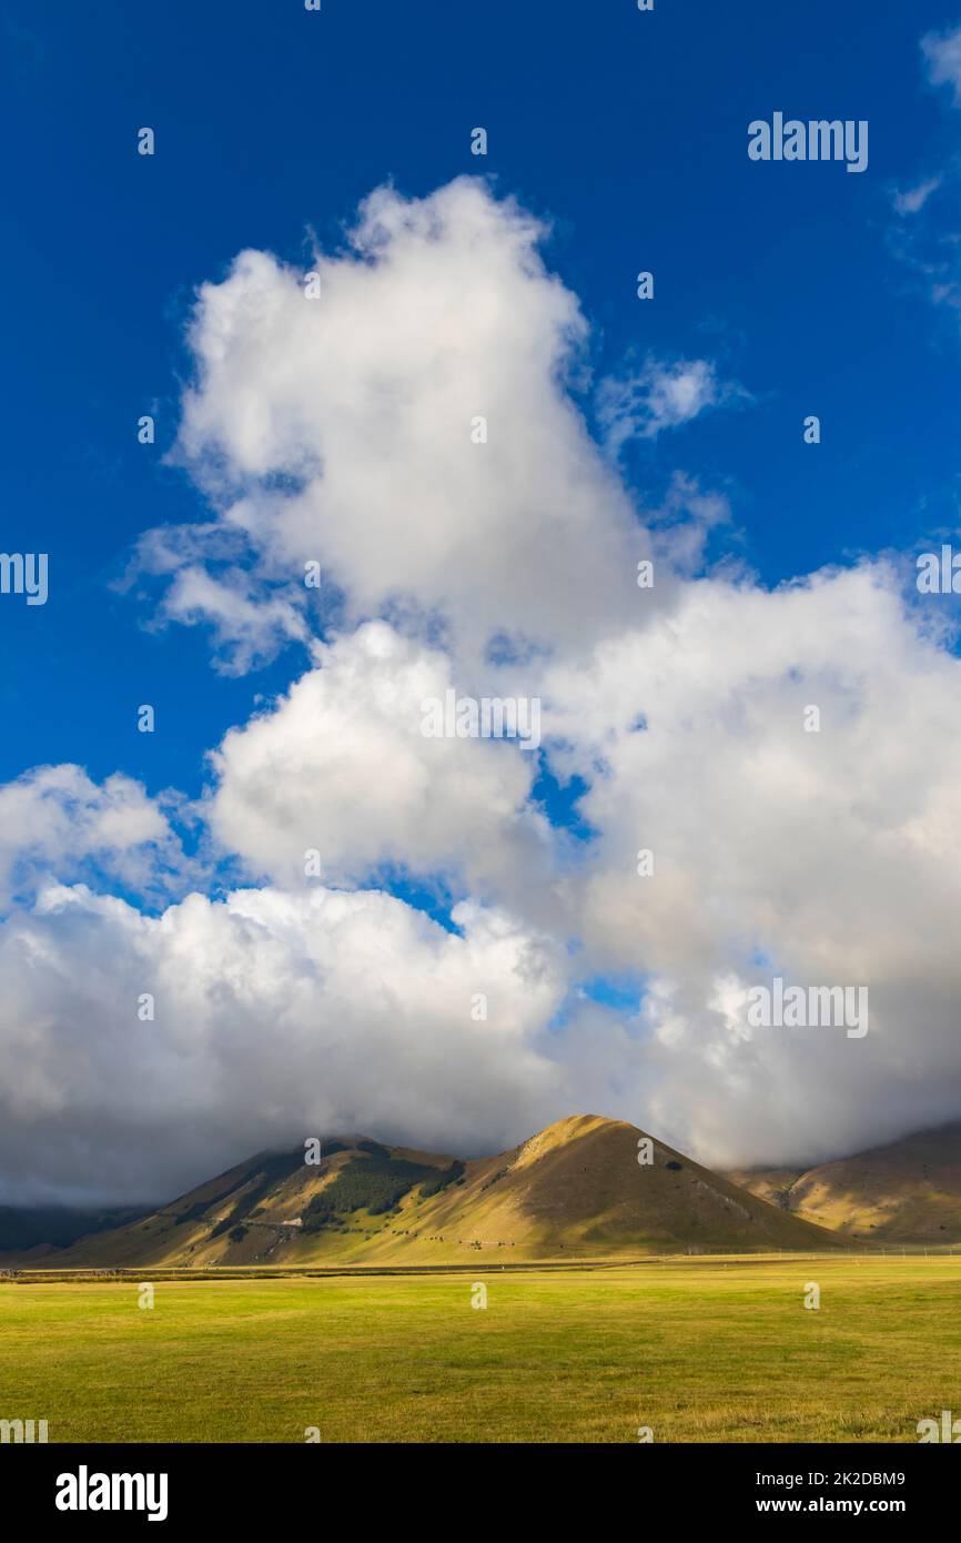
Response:
[[[706,352],[753,393],[685,429],[683,460],[723,483],[765,582],[952,525],[956,318],[896,256],[890,194],[953,154],[918,48],[953,20],[868,0],[5,5],[5,543],[48,549],[56,580],[42,611],[0,616],[0,775],[76,759],[196,793],[202,751],[302,667],[290,650],[216,676],[201,630],[151,634],[110,586],[143,529],[204,512],[162,464],[194,285],[247,245],[299,261],[307,227],[336,242],[384,179],[424,194],[475,171],[475,123],[498,193],[554,221],[546,261],[597,369]],[[745,125],[777,106],[867,117],[867,174],[750,164]],[[642,267],[656,304],[634,298]],[[643,444],[629,475],[657,488],[676,458]],[[164,724],[150,741],[142,701]]]

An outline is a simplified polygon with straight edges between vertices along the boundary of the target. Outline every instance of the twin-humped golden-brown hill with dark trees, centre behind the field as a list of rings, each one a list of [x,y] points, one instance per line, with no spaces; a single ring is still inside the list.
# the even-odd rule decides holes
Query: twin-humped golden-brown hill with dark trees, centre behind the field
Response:
[[[304,1156],[261,1153],[150,1216],[23,1264],[514,1264],[833,1247],[805,1219],[592,1114],[466,1162],[356,1136],[324,1142],[318,1165]]]

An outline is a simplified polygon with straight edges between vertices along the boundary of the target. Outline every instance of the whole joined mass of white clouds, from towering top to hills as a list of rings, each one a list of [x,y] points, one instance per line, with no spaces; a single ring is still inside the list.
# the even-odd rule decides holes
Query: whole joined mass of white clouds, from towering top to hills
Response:
[[[159,1199],[305,1125],[466,1151],[595,1109],[748,1162],[956,1113],[961,665],[882,563],[774,593],[693,577],[728,503],[677,471],[639,518],[572,395],[586,327],[541,235],[477,182],[381,190],[349,250],[316,256],[319,299],[265,253],[201,290],[179,455],[216,517],[139,555],[222,667],[304,645],[211,751],[211,836],[265,887],[156,918],[54,886],[11,917],[9,1194]],[[723,398],[685,369],[608,387],[602,423],[646,435]],[[517,745],[424,738],[447,688],[543,701],[591,839],[546,826]],[[82,778],[52,818],[31,779],[0,790],[5,870],[164,867],[162,812]],[[443,878],[461,934],[375,892],[390,870]],[[865,984],[867,1037],[748,1032],[739,994],[774,972]],[[643,981],[640,1011],[569,995],[592,975]]]

